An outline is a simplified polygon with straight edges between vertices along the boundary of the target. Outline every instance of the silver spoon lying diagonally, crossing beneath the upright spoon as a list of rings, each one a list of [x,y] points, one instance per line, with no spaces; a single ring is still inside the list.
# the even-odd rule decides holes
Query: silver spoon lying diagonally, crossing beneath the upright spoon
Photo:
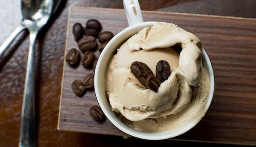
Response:
[[[52,15],[57,11],[61,0],[54,0],[54,9],[52,11]],[[20,22],[20,26],[18,26],[13,33],[5,40],[5,42],[0,46],[0,59],[3,58],[5,52],[8,50],[10,44],[13,42],[13,40],[17,37],[17,35],[22,32],[26,27],[24,26],[24,21],[22,20]]]

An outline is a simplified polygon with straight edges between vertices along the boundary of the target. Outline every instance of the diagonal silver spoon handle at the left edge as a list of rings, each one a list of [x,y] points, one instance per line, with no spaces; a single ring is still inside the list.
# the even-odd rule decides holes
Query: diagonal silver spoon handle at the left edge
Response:
[[[10,46],[12,41],[16,38],[16,36],[24,30],[25,27],[20,25],[17,27],[14,32],[5,40],[5,42],[0,46],[0,59],[3,57],[4,53],[6,52],[7,48]]]

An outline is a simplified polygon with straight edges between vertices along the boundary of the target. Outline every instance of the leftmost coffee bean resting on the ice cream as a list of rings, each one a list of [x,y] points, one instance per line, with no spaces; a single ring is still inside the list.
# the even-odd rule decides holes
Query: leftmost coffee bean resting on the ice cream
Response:
[[[145,63],[135,61],[131,65],[133,75],[146,87],[145,81],[148,76],[153,75],[152,70]]]

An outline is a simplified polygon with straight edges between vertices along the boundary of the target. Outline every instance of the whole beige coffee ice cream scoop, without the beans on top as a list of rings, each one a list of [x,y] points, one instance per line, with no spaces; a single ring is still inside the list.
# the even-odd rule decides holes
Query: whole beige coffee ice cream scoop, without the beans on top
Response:
[[[157,22],[151,29],[144,28],[128,39],[113,57],[106,77],[112,108],[132,121],[166,117],[181,111],[191,100],[190,86],[197,86],[200,81],[202,53],[198,42],[194,34],[166,22]],[[171,48],[177,43],[182,44],[180,55]],[[140,61],[156,74],[160,60],[170,64],[172,74],[154,92],[134,77],[130,66]]]

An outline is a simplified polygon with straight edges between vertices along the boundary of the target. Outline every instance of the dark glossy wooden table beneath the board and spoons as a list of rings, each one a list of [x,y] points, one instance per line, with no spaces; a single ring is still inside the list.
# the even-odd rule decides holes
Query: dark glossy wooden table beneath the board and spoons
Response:
[[[63,1],[62,1],[63,2]],[[142,10],[199,13],[256,18],[256,1],[140,1]],[[146,141],[121,137],[57,131],[63,55],[66,41],[68,10],[71,6],[122,8],[122,1],[67,1],[37,41],[37,143],[38,146],[130,146],[184,144],[174,140]],[[26,33],[25,33],[26,36]],[[19,46],[16,48],[16,44]],[[0,67],[0,146],[17,146],[20,113],[27,65],[29,39],[13,44],[16,49],[10,60]],[[246,134],[244,134],[246,135]],[[256,138],[255,138],[256,139]],[[187,142],[186,142],[187,143]],[[200,144],[200,143],[193,143]],[[212,144],[211,144],[212,145]],[[219,144],[220,145],[220,144]]]

